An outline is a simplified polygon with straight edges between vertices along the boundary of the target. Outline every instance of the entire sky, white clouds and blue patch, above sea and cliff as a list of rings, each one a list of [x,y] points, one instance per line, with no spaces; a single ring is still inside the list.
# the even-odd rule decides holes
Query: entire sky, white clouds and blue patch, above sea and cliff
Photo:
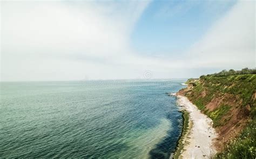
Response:
[[[254,1],[1,1],[1,81],[255,68]]]

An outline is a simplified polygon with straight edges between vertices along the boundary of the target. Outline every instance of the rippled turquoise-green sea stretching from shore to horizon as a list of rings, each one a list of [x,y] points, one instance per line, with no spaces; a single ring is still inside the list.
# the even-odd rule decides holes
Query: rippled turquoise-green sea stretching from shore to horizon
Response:
[[[184,81],[2,82],[0,157],[169,158]]]

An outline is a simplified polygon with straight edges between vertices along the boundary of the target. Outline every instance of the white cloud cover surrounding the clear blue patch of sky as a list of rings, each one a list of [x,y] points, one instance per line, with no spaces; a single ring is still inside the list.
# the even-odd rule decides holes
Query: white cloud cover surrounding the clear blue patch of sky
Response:
[[[255,67],[254,2],[238,2],[186,57],[141,56],[130,33],[146,1],[1,2],[1,80],[199,76],[202,69]]]

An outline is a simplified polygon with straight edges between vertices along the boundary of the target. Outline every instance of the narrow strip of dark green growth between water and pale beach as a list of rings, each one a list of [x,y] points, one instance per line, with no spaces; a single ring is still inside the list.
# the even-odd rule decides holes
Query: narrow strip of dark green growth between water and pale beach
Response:
[[[181,111],[181,113],[183,113],[182,117],[183,117],[183,128],[181,130],[181,135],[178,139],[178,143],[177,143],[177,147],[174,153],[173,158],[179,158],[180,154],[181,154],[181,150],[183,150],[184,148],[184,143],[183,140],[185,138],[185,135],[188,132],[188,129],[190,129],[189,127],[189,113],[185,110]]]

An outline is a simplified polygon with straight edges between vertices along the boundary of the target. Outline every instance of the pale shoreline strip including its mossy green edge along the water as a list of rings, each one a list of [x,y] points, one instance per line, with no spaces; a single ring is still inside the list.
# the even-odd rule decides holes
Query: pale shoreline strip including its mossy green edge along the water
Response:
[[[184,96],[171,93],[177,97],[180,111],[187,113],[187,120],[183,121],[183,129],[177,141],[177,148],[170,158],[210,158],[216,153],[213,140],[217,133],[212,127],[212,120],[198,110],[190,100]]]

